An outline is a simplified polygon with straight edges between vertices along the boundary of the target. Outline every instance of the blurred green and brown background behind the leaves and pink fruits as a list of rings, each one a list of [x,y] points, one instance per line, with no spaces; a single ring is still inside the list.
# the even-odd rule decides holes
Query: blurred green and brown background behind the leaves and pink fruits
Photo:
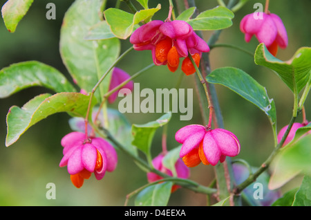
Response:
[[[6,1],[0,1],[1,6]],[[56,5],[56,20],[46,19],[46,4],[53,2]],[[226,2],[226,1],[225,1]],[[243,16],[254,12],[254,3],[265,1],[249,1],[239,10],[233,26],[223,30],[218,43],[234,44],[248,51],[254,52],[258,42],[255,38],[248,44],[239,30],[239,23]],[[64,13],[73,1],[69,0],[40,0],[34,1],[27,15],[17,26],[15,33],[8,33],[3,21],[0,22],[0,68],[10,64],[28,60],[37,60],[57,68],[72,81],[59,55],[59,30]],[[149,7],[162,4],[162,10],[156,13],[154,19],[166,19],[168,1],[149,1]],[[217,6],[216,0],[197,0],[200,11]],[[109,0],[108,7],[115,6],[115,0]],[[125,3],[122,9],[129,11]],[[274,0],[270,2],[270,11],[283,19],[288,31],[289,46],[279,50],[276,57],[288,60],[301,46],[310,46],[311,20],[310,0]],[[212,32],[204,33],[205,40]],[[122,51],[129,48],[128,40],[122,41]],[[266,87],[270,98],[276,102],[278,131],[287,125],[292,114],[293,97],[290,89],[281,82],[272,71],[254,64],[254,58],[232,48],[214,48],[210,52],[211,68],[234,66],[252,75],[260,84]],[[130,74],[139,71],[151,64],[150,51],[132,51],[118,64]],[[143,88],[172,88],[176,84],[180,70],[171,73],[166,66],[152,68],[151,71],[138,77]],[[164,79],[164,80],[163,80]],[[184,77],[182,88],[194,88],[194,75]],[[253,104],[243,100],[236,93],[221,86],[216,86],[220,107],[222,108],[225,129],[228,129],[241,142],[241,154],[250,165],[258,166],[272,152],[273,138],[270,122],[265,114]],[[62,159],[60,140],[71,130],[68,125],[69,116],[59,113],[46,118],[31,127],[23,134],[17,143],[10,147],[5,146],[6,113],[12,105],[21,107],[35,95],[50,92],[41,87],[23,90],[10,98],[0,100],[0,205],[123,205],[126,194],[147,183],[144,172],[126,155],[119,153],[119,163],[113,173],[107,173],[102,181],[96,181],[94,176],[87,180],[80,189],[70,182],[66,167],[59,167]],[[194,91],[194,118],[191,121],[180,121],[178,114],[174,114],[169,123],[168,148],[177,147],[174,134],[180,127],[191,123],[200,123],[200,111],[196,93]],[[114,108],[117,103],[113,104]],[[311,114],[310,97],[305,103],[307,116]],[[126,117],[131,123],[142,124],[155,120],[160,114],[156,113],[128,113]],[[298,118],[301,122],[301,117]],[[156,133],[153,141],[153,156],[160,152],[161,129]],[[209,185],[214,178],[214,169],[211,166],[199,165],[191,168],[191,179]],[[55,183],[56,199],[46,199],[46,185]],[[290,186],[289,186],[290,187]],[[171,195],[169,205],[206,205],[207,198],[189,190],[181,189]],[[129,205],[133,204],[133,199]]]

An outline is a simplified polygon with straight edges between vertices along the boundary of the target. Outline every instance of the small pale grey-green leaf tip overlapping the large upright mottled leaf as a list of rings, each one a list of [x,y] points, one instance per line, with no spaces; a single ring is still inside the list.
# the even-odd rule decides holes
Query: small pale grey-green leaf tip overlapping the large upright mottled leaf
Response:
[[[100,21],[99,23],[91,26],[90,30],[84,39],[86,40],[98,40],[98,39],[110,39],[115,37],[111,32],[109,24],[107,21]]]

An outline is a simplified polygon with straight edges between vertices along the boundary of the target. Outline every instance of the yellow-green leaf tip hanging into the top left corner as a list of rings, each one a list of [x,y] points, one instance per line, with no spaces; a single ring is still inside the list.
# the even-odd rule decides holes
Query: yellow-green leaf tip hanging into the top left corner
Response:
[[[1,9],[2,17],[6,28],[14,33],[19,21],[26,15],[33,0],[8,0]]]

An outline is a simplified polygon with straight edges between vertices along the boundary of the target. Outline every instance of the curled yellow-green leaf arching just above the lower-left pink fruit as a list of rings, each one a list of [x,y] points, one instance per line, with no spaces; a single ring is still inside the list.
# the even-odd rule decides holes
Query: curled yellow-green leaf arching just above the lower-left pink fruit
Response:
[[[36,96],[21,108],[10,107],[6,117],[6,146],[15,143],[32,125],[54,113],[68,112],[72,116],[85,117],[89,99],[88,95],[82,93],[46,93]]]

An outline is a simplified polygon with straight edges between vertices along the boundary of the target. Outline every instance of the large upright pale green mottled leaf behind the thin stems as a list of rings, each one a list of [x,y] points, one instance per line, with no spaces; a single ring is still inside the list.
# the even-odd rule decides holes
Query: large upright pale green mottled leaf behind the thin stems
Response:
[[[120,41],[117,38],[88,41],[84,37],[88,30],[98,24],[100,0],[77,0],[67,10],[61,28],[60,53],[70,75],[81,89],[91,92],[100,77],[120,55]],[[101,101],[109,91],[111,74],[107,75],[95,92]]]

